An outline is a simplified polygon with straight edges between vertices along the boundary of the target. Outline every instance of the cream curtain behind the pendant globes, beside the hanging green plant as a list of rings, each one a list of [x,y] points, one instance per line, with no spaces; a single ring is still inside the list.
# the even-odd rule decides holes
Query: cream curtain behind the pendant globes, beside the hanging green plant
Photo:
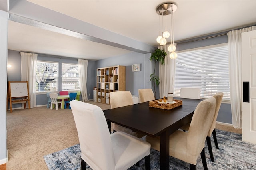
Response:
[[[176,43],[174,43],[176,46]],[[170,52],[168,51],[169,45],[163,45],[158,47],[161,50],[164,50],[167,53],[167,57],[164,60],[164,65],[159,63],[159,97],[162,98],[167,96],[167,93],[173,92],[174,88],[174,77],[175,77],[175,67],[176,59],[170,59]]]

